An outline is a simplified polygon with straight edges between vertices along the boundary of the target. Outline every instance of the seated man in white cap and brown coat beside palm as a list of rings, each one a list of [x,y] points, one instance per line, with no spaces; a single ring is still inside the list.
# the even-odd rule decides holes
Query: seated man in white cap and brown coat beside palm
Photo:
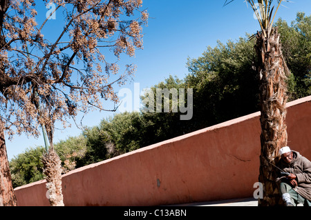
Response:
[[[279,178],[285,205],[296,206],[303,203],[304,206],[311,206],[311,162],[289,147],[281,148],[279,154],[279,168],[289,173]]]

